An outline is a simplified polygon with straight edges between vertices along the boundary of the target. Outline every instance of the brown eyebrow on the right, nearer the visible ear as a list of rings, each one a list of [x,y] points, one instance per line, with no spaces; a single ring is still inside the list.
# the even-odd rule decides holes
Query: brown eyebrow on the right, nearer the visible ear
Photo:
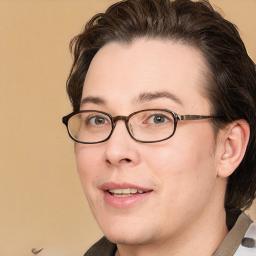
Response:
[[[140,93],[135,99],[135,102],[141,103],[141,102],[145,102],[145,101],[150,101],[153,99],[157,99],[157,98],[169,98],[175,102],[177,102],[180,105],[183,105],[182,101],[175,96],[173,93],[169,92],[169,91],[154,91],[154,92],[143,92]]]

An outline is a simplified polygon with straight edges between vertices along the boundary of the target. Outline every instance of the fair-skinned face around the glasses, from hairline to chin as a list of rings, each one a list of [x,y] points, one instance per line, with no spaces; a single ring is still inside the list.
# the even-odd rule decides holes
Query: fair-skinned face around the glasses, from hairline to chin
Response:
[[[196,49],[178,43],[111,42],[92,59],[80,109],[112,116],[148,108],[209,115],[200,93],[205,68]],[[143,93],[148,96],[141,99]],[[178,121],[175,134],[156,143],[135,141],[119,120],[109,140],[76,143],[80,180],[106,237],[115,243],[152,243],[206,221],[221,204],[213,147],[208,119]],[[132,193],[126,194],[128,188]]]

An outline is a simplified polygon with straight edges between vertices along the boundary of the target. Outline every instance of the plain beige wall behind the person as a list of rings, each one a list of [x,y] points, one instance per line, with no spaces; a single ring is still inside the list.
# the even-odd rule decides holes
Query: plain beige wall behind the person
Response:
[[[101,236],[61,117],[68,43],[114,0],[0,0],[0,256],[74,256]],[[211,0],[256,60],[256,0]],[[251,210],[251,216],[256,219]]]

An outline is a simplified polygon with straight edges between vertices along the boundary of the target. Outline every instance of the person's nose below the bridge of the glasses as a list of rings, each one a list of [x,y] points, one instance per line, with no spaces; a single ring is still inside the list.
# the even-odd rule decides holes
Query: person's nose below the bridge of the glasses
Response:
[[[124,120],[118,120],[110,138],[105,143],[103,161],[109,166],[138,164],[138,143],[129,135]]]

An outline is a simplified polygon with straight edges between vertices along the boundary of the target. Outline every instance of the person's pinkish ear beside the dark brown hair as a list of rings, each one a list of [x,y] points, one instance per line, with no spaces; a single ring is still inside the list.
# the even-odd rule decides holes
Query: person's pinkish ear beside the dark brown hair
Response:
[[[244,119],[231,122],[228,129],[221,134],[222,151],[217,175],[228,177],[240,164],[249,140],[250,128]]]

